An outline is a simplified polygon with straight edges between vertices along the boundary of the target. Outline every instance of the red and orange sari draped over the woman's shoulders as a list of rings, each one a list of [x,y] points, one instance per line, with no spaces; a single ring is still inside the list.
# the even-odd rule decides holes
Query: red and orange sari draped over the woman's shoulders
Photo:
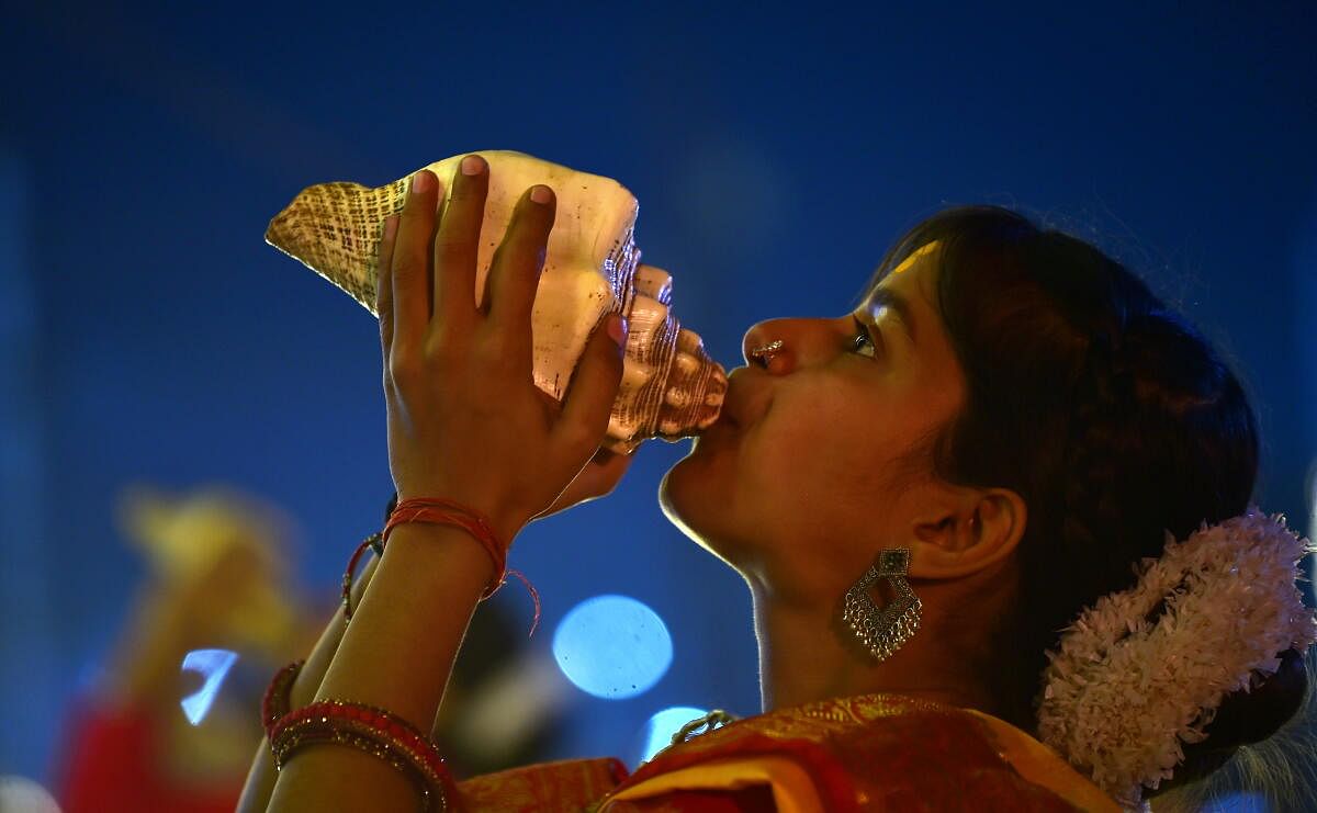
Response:
[[[967,804],[985,813],[1118,809],[1023,731],[977,712],[896,695],[741,720],[661,751],[631,776],[616,760],[570,760],[477,777],[458,792],[466,813],[761,813],[777,809],[774,789],[793,792],[790,783],[773,779],[772,763],[781,759],[809,777],[813,787],[802,799],[836,813]]]

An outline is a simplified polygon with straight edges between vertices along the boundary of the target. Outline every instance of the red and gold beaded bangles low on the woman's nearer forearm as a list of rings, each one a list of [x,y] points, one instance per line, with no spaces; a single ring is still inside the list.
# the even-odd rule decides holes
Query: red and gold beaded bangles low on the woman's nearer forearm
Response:
[[[407,774],[420,789],[425,810],[446,810],[454,797],[452,775],[429,738],[396,714],[344,700],[312,702],[271,726],[275,770],[303,746],[323,742],[362,750]]]

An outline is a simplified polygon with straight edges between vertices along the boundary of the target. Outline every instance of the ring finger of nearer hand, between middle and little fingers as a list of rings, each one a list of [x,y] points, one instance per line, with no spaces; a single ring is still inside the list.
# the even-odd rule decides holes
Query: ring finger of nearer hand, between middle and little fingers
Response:
[[[417,347],[429,324],[429,239],[435,234],[435,205],[439,179],[429,170],[412,176],[411,191],[398,222],[392,247],[394,333],[395,347]]]

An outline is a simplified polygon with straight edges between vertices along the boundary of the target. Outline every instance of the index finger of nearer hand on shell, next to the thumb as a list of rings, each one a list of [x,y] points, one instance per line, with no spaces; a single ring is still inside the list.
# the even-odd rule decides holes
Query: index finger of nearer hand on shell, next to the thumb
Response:
[[[531,308],[544,268],[556,210],[553,189],[543,184],[522,195],[507,235],[490,266],[490,320],[511,341],[510,351],[529,359]]]

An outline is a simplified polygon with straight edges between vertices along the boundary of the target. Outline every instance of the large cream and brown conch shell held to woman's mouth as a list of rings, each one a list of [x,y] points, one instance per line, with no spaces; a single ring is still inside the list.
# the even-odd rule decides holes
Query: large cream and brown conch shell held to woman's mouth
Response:
[[[699,335],[672,314],[672,276],[640,264],[635,196],[612,179],[524,153],[479,155],[489,160],[490,185],[477,258],[477,305],[485,297],[494,249],[522,193],[543,183],[558,200],[531,317],[536,387],[561,401],[590,333],[608,313],[622,313],[630,330],[605,446],[631,453],[647,438],[676,441],[712,424],[727,392],[727,374],[705,353]],[[456,155],[425,167],[449,196],[461,159]],[[410,179],[374,189],[354,183],[308,187],[270,221],[265,239],[375,313],[383,220],[402,210]]]

